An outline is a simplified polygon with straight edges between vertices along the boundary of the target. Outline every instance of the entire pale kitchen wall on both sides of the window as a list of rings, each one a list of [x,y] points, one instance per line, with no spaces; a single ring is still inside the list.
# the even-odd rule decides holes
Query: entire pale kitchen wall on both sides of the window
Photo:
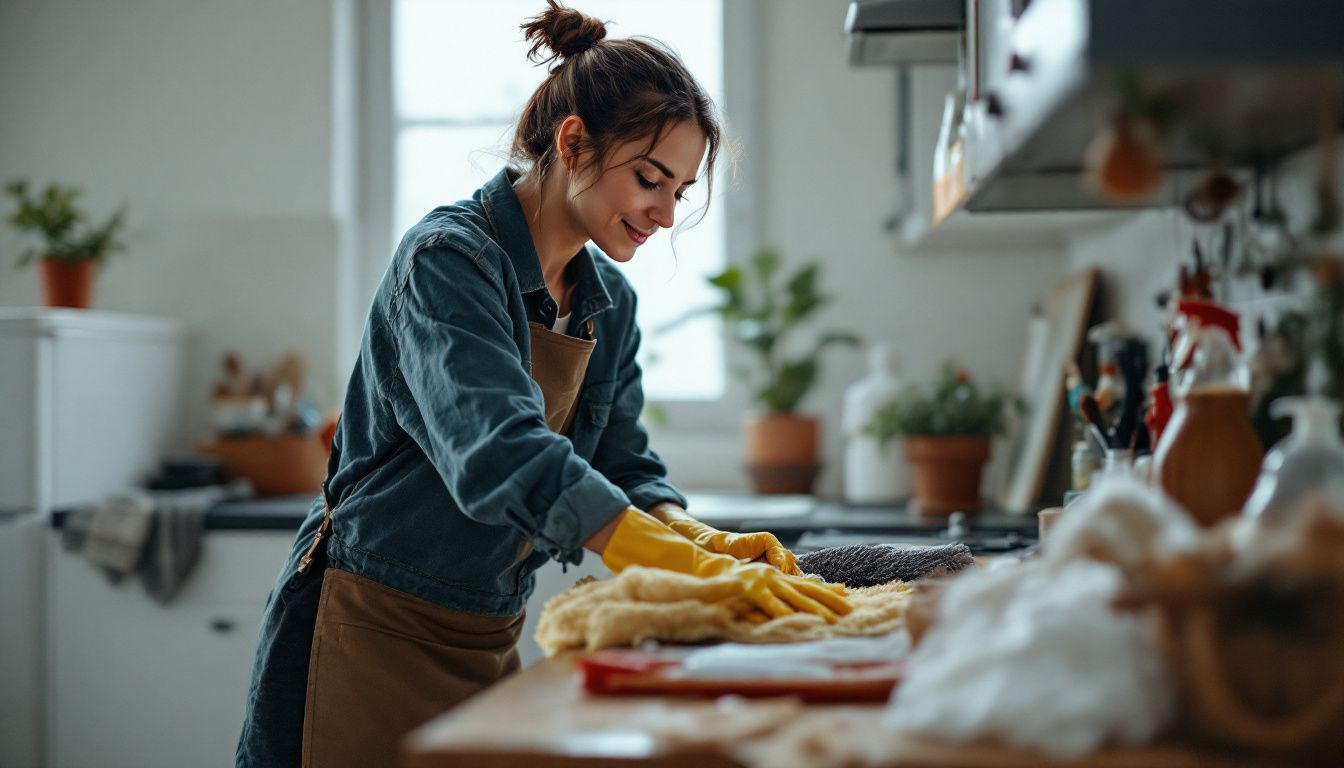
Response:
[[[349,176],[332,171],[353,141],[352,110],[332,95],[341,87],[333,24],[348,7],[0,0],[0,179],[79,184],[98,214],[129,204],[130,253],[101,278],[97,305],[187,321],[195,339],[185,438],[202,436],[227,348],[257,366],[300,348],[316,379],[310,394],[339,402],[351,350],[335,305],[362,299],[341,272]],[[774,245],[790,260],[824,261],[837,301],[817,328],[890,342],[910,378],[956,356],[985,378],[1015,381],[1028,309],[1062,274],[1063,257],[898,253],[883,226],[895,199],[895,71],[845,63],[845,7],[755,4],[758,112],[738,140],[757,182],[720,187],[750,200],[755,243],[743,254]],[[919,82],[929,109],[941,110],[933,81]],[[914,151],[931,156],[929,120],[918,132],[927,145]],[[5,245],[12,238],[0,234]],[[35,270],[0,264],[0,304],[38,297]],[[363,311],[355,315],[362,321]],[[825,420],[823,494],[840,490],[840,395],[863,359],[828,351],[805,402]],[[742,391],[730,401],[742,404]],[[673,424],[656,447],[688,487],[746,484],[735,418],[699,430]]]

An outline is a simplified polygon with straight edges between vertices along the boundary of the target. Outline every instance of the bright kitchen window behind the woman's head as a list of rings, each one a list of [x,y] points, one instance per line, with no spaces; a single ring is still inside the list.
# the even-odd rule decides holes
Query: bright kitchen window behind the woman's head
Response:
[[[469,196],[507,161],[519,112],[546,77],[546,67],[527,61],[519,24],[544,7],[542,0],[394,0],[391,225],[396,237],[433,207]],[[669,44],[722,108],[722,0],[681,0],[675,12],[646,0],[585,0],[575,7],[613,19],[609,38],[648,35]],[[724,393],[718,319],[663,328],[715,299],[704,277],[726,262],[726,167],[720,164],[703,219],[681,225],[702,214],[704,191],[698,184],[677,207],[675,237],[660,233],[621,266],[640,297],[649,399],[715,401]]]

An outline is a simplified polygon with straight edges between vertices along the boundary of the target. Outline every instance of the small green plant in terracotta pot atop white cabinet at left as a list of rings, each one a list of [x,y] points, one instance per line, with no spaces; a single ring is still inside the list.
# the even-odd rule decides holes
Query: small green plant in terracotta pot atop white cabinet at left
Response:
[[[94,269],[124,245],[117,234],[125,223],[125,208],[114,213],[101,226],[86,223],[75,207],[79,190],[48,184],[35,196],[28,195],[28,182],[5,186],[5,194],[17,203],[9,223],[24,233],[42,237],[42,245],[19,256],[19,266],[42,262],[42,295],[47,307],[87,309],[93,300]]]

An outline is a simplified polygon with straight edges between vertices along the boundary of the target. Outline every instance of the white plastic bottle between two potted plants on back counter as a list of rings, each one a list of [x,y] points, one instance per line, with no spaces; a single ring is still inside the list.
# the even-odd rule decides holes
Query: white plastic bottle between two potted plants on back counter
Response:
[[[868,374],[844,393],[841,430],[845,437],[844,498],[853,504],[890,504],[910,494],[910,469],[900,441],[886,448],[864,428],[883,404],[900,394],[900,379],[891,371],[884,344],[868,350]]]

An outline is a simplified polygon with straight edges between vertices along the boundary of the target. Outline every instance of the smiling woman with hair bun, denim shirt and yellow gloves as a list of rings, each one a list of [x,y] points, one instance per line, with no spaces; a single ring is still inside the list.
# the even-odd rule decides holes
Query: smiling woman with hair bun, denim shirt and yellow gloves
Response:
[[[582,549],[613,570],[730,574],[759,620],[848,611],[773,535],[687,515],[638,421],[634,295],[612,262],[708,187],[710,100],[675,54],[605,40],[554,0],[523,30],[554,66],[517,169],[392,257],[323,498],[267,604],[239,765],[394,761],[406,732],[517,668],[532,572]]]

